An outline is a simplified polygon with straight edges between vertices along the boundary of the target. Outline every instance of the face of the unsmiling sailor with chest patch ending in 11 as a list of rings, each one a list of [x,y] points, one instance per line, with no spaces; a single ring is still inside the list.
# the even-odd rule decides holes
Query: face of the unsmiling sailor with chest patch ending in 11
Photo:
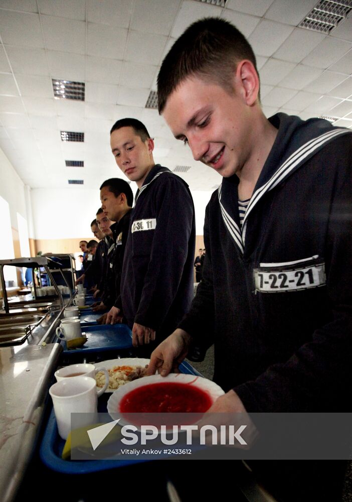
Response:
[[[148,138],[143,142],[132,127],[122,127],[111,133],[110,145],[118,167],[140,188],[154,166],[153,140]]]

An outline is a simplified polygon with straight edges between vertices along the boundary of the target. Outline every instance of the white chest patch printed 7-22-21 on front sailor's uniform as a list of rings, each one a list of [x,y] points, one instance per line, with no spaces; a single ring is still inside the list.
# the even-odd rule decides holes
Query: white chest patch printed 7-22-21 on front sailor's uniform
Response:
[[[296,265],[294,268],[282,266],[283,264],[279,264],[279,267],[275,267],[275,264],[270,265],[271,267],[253,270],[256,291],[281,293],[316,288],[326,284],[325,263],[323,262],[305,266]]]

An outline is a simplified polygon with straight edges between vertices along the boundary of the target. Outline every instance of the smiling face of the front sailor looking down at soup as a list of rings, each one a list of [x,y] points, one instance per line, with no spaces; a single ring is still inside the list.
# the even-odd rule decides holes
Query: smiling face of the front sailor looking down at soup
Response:
[[[242,78],[234,77],[234,90],[229,93],[219,84],[193,76],[170,94],[162,115],[174,137],[190,146],[195,160],[227,178],[240,175],[253,155],[255,98],[249,98]]]

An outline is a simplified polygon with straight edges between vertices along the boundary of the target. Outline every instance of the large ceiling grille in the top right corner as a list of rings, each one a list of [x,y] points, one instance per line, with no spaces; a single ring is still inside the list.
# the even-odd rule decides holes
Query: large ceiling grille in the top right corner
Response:
[[[351,10],[352,0],[320,0],[298,26],[328,34]]]

